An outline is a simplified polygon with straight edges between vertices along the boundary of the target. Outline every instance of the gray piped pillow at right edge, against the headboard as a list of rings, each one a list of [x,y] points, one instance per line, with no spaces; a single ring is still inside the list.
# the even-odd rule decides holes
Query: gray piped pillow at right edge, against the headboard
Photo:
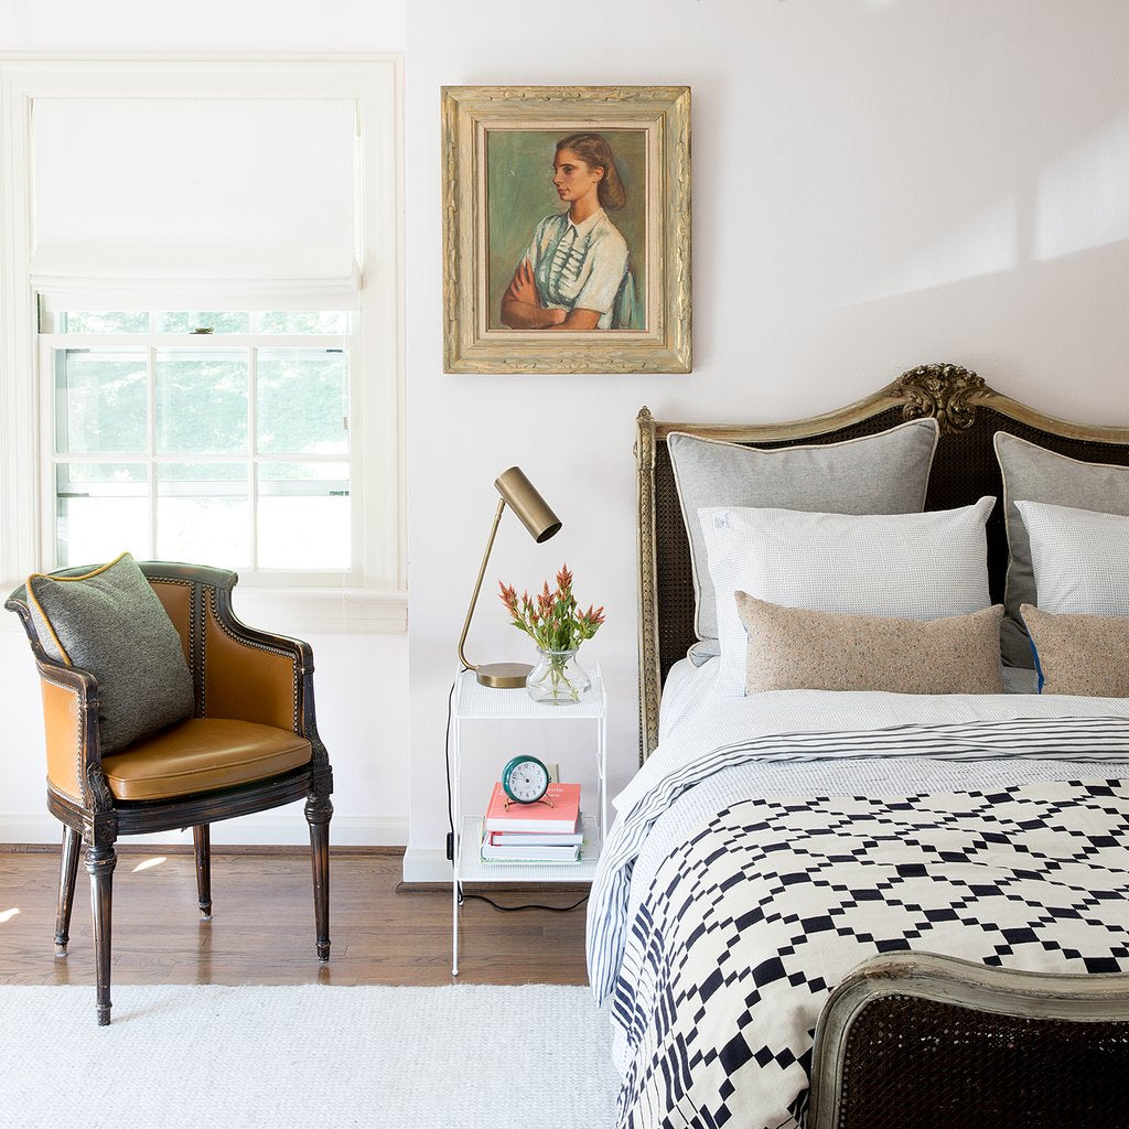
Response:
[[[997,431],[994,443],[1004,479],[1008,546],[1004,590],[1007,618],[1000,631],[1000,645],[1005,664],[1032,667],[1035,660],[1019,607],[1039,601],[1031,537],[1016,502],[1045,502],[1126,516],[1129,515],[1129,466],[1079,462],[1006,431]]]

